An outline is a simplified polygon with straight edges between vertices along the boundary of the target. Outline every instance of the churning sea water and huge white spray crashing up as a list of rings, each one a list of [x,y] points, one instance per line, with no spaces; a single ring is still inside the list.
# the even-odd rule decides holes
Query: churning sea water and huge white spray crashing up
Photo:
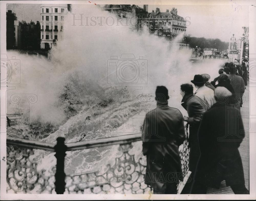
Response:
[[[195,74],[207,73],[213,80],[225,62],[192,62],[191,50],[177,46],[183,35],[170,42],[150,35],[146,28],[138,34],[132,16],[123,19],[127,26],[110,26],[104,20],[95,26],[80,26],[74,17],[81,15],[84,20],[120,20],[97,6],[72,5],[72,13],[65,17],[64,38],[51,50],[50,60],[8,52],[8,57],[15,56],[21,65],[20,75],[12,77],[13,81],[20,79],[20,84],[7,91],[7,111],[14,113],[18,107],[10,99],[13,94],[35,94],[38,100],[29,105],[30,122],[59,126],[42,139],[45,142],[56,143],[57,137],[65,137],[67,143],[141,132],[145,113],[156,106],[154,93],[159,85],[169,90],[168,105],[186,115],[180,105],[180,85],[191,83]],[[69,97],[65,101],[60,99],[63,91]],[[77,113],[67,118],[65,110],[74,102],[79,102]],[[134,143],[132,153],[136,159],[143,158],[141,142]],[[106,164],[113,165],[119,155],[117,145],[68,152],[65,172],[104,172]],[[51,175],[56,164],[54,153],[36,150],[35,157],[37,169]]]

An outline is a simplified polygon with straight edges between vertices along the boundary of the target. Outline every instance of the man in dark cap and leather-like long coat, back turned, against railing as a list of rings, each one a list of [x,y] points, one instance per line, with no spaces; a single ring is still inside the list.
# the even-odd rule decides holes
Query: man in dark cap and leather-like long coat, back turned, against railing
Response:
[[[177,194],[177,183],[183,179],[178,147],[185,140],[184,119],[178,109],[168,106],[168,99],[167,88],[157,86],[157,108],[146,114],[142,129],[145,184],[154,194]]]

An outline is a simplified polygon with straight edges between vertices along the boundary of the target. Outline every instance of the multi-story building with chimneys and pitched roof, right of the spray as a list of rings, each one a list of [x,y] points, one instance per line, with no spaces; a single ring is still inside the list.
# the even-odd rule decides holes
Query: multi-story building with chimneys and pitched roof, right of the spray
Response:
[[[151,13],[138,14],[139,27],[148,26],[150,33],[158,36],[172,38],[179,33],[186,32],[186,20],[177,15],[177,8],[169,9],[166,12],[160,12],[159,8]]]

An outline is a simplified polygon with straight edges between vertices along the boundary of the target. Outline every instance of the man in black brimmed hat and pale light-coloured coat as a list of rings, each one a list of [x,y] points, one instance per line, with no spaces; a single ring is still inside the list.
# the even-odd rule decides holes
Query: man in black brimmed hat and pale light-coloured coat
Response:
[[[202,75],[195,75],[194,80],[191,82],[197,88],[195,96],[201,98],[209,107],[216,103],[214,98],[214,91],[209,87],[205,86],[204,78]]]

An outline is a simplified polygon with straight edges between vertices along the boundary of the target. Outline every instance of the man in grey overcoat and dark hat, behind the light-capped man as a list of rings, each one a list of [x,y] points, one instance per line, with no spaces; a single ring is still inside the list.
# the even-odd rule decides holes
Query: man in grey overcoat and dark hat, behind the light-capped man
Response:
[[[243,104],[243,93],[245,91],[245,85],[244,85],[244,81],[243,78],[239,75],[236,75],[236,71],[237,69],[235,68],[235,65],[233,62],[230,62],[228,64],[230,73],[228,75],[228,78],[230,79],[230,84],[232,85],[234,92],[235,92],[235,101],[237,104],[240,105],[240,107],[242,107]]]

